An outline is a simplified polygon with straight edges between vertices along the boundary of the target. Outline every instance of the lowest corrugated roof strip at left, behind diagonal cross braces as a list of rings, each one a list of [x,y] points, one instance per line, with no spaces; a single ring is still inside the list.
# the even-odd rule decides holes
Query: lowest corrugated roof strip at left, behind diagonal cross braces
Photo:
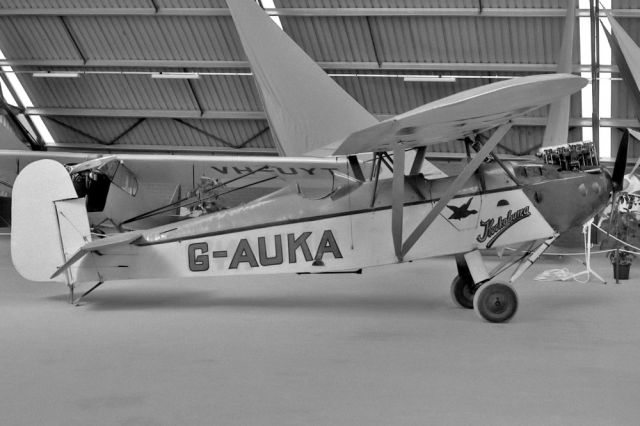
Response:
[[[112,141],[126,129],[135,124],[132,119],[57,117],[68,126],[79,129],[104,142]],[[82,135],[68,127],[45,118],[47,127],[59,143],[97,143],[96,139]],[[268,126],[262,120],[185,120],[188,125],[172,119],[146,119],[114,145],[158,145],[229,148],[244,145],[244,148],[273,148],[270,133],[264,129]],[[202,129],[200,132],[193,127]],[[207,135],[208,133],[209,135]],[[215,136],[215,137],[214,137]]]

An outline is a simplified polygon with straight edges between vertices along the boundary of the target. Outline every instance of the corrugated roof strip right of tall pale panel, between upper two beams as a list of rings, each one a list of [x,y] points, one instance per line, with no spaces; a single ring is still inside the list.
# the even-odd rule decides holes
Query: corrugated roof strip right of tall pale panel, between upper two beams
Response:
[[[562,25],[557,18],[283,20],[287,33],[316,61],[555,63]]]

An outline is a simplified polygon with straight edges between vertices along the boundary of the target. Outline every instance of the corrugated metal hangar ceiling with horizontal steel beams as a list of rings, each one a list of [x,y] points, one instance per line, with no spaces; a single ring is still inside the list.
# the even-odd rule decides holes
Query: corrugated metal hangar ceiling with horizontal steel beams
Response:
[[[634,3],[612,6],[640,41]],[[268,12],[386,118],[497,78],[555,71],[565,7],[564,0],[275,0]],[[49,149],[276,153],[225,0],[5,0],[0,49],[3,78],[10,66],[33,103],[24,112],[43,117],[55,140]],[[578,58],[576,35],[574,72],[589,71]],[[414,74],[456,78],[405,81]],[[623,85],[613,90],[615,117],[636,123]],[[500,150],[539,146],[545,116],[519,119]],[[590,125],[580,94],[571,117],[571,139],[579,140]]]

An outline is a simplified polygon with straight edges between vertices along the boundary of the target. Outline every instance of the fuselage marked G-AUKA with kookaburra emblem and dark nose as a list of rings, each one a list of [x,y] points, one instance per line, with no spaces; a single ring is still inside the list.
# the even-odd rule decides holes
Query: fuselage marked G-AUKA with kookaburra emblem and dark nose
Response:
[[[611,189],[610,178],[599,171],[532,165],[514,173],[520,185],[494,165],[483,166],[404,260],[549,238],[586,221],[606,204]],[[405,232],[450,183],[451,178],[407,178]],[[390,179],[351,183],[321,200],[281,190],[238,208],[150,229],[131,245],[85,257],[72,273],[78,281],[93,281],[318,273],[395,263],[391,203]]]

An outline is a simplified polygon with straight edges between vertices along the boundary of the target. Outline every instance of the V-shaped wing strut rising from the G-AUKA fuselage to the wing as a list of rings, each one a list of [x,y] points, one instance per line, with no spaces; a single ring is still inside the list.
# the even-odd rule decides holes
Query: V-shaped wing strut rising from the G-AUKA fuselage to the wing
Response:
[[[504,135],[511,129],[512,123],[509,121],[506,124],[500,126],[491,135],[491,138],[484,144],[478,154],[465,166],[462,172],[456,177],[451,186],[447,189],[440,200],[436,203],[433,209],[427,214],[427,216],[416,226],[407,240],[400,244],[402,241],[402,216],[403,216],[403,200],[404,200],[404,152],[400,144],[394,145],[394,158],[396,159],[393,167],[393,201],[391,211],[391,231],[393,235],[393,246],[395,249],[396,257],[398,261],[402,262],[402,259],[411,250],[415,243],[422,237],[422,234],[429,228],[433,221],[438,217],[442,209],[445,208],[447,203],[462,189],[463,185],[469,180],[471,175],[480,167],[482,162],[491,154],[493,149],[498,145],[498,142],[502,140]],[[402,159],[402,160],[401,160]],[[400,164],[402,161],[402,164]],[[401,245],[401,247],[400,247]]]

